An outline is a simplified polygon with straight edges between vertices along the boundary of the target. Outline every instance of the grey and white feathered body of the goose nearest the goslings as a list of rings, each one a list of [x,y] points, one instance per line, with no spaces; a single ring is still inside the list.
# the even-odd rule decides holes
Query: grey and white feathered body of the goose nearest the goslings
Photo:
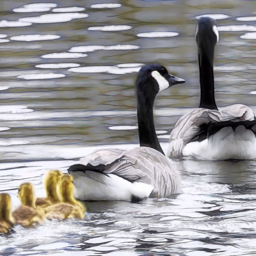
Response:
[[[181,192],[180,175],[175,169],[175,163],[159,151],[149,147],[122,152],[115,149],[103,151],[105,154],[98,150],[82,158],[79,161],[80,168],[74,165],[68,169],[74,178],[76,198],[132,201],[133,196],[142,200],[148,196],[166,197]],[[122,153],[118,154],[118,161],[116,155],[112,163],[106,159],[111,152]],[[101,156],[102,162],[106,163],[104,170],[97,168]],[[95,170],[87,170],[88,163],[95,166]],[[81,182],[87,185],[81,187]]]

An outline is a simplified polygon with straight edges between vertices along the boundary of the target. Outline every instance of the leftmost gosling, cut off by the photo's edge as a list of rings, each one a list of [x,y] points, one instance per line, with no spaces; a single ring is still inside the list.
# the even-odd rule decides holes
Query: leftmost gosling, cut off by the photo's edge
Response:
[[[7,193],[0,194],[0,233],[8,233],[13,227],[11,215],[11,197]]]

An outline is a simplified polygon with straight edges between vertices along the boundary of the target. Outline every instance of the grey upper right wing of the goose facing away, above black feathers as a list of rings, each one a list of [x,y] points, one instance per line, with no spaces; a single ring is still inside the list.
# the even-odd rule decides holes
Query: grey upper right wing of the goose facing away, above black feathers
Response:
[[[223,108],[221,111],[221,121],[252,121],[255,119],[253,110],[242,104],[234,104]]]

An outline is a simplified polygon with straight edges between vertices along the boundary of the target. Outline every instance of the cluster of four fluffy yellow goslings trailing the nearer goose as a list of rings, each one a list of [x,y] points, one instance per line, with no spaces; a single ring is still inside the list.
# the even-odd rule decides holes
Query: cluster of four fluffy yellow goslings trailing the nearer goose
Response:
[[[21,205],[12,212],[11,197],[0,194],[0,233],[8,233],[14,224],[32,227],[45,219],[84,218],[86,207],[74,198],[73,177],[59,170],[45,174],[46,198],[35,198],[34,186],[20,184],[17,197]]]

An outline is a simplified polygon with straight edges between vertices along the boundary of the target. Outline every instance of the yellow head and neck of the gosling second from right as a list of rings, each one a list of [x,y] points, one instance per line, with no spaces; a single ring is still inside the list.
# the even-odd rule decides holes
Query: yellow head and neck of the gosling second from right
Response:
[[[47,198],[53,202],[58,202],[57,184],[60,181],[62,172],[60,170],[49,170],[44,177],[44,188],[47,194]]]

